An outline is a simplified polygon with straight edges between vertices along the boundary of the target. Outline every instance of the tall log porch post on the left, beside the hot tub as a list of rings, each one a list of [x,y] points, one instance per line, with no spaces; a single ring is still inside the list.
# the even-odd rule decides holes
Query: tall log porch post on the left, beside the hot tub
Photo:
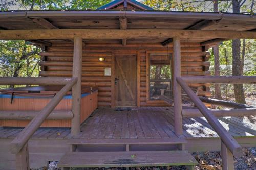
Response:
[[[73,77],[77,77],[76,84],[72,87],[72,107],[74,115],[71,121],[71,134],[73,136],[80,133],[80,112],[81,112],[81,75],[82,75],[82,38],[74,37],[73,56]]]

